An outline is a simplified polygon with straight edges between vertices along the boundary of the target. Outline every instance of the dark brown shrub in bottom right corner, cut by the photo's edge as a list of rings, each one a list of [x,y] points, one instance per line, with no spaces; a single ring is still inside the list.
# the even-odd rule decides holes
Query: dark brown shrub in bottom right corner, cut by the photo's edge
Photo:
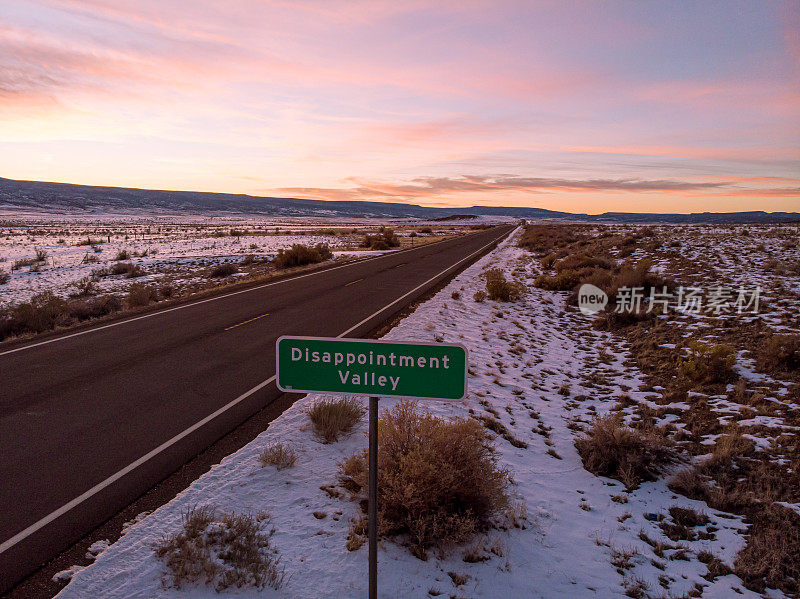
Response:
[[[800,515],[770,505],[751,517],[747,544],[736,556],[734,569],[747,588],[766,587],[789,595],[800,591]]]

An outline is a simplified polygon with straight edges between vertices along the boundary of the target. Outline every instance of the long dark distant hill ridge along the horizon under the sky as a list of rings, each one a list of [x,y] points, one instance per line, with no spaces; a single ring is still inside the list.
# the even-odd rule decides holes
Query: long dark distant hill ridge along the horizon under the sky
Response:
[[[245,194],[198,191],[164,191],[128,187],[97,187],[43,181],[18,181],[0,177],[0,214],[11,211],[46,214],[209,214],[254,216],[317,216],[350,218],[444,219],[462,215],[507,216],[527,219],[579,220],[590,222],[655,223],[744,223],[800,222],[798,212],[701,212],[657,214],[606,212],[572,214],[504,206],[430,208],[416,204],[365,201],[325,201],[300,198],[259,197]]]

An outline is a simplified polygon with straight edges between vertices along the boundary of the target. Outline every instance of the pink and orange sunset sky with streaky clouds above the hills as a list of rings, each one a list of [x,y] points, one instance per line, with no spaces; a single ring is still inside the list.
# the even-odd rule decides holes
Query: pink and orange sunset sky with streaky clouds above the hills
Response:
[[[3,0],[0,177],[800,211],[800,2]]]

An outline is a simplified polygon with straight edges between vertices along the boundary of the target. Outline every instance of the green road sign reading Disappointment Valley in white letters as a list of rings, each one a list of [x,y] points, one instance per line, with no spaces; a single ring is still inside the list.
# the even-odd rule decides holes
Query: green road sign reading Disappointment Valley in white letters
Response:
[[[282,391],[417,399],[467,393],[467,349],[457,343],[281,337],[276,360]]]

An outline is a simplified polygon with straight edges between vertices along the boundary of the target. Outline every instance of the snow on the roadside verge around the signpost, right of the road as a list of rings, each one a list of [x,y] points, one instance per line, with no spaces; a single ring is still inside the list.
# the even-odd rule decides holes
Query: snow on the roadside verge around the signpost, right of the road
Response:
[[[379,547],[381,597],[611,597],[646,585],[642,596],[682,596],[701,585],[703,597],[753,597],[735,575],[705,580],[697,553],[709,551],[731,565],[743,545],[738,517],[720,515],[697,501],[670,492],[666,482],[644,483],[626,493],[617,481],[585,471],[574,448],[576,422],[608,412],[624,392],[632,397],[640,379],[623,366],[624,348],[598,363],[612,339],[590,329],[576,312],[560,309],[563,298],[528,285],[517,303],[477,303],[483,268],[503,268],[527,279],[530,258],[513,241],[504,242],[456,277],[386,336],[388,339],[460,342],[469,349],[469,395],[463,402],[423,402],[447,418],[484,416],[500,420],[516,438],[498,437],[501,461],[513,473],[512,499],[527,508],[524,529],[490,531],[476,543],[488,558],[466,563],[467,547],[428,561],[413,557],[392,540]],[[528,281],[529,282],[529,281]],[[454,292],[460,294],[454,299]],[[605,376],[590,384],[587,375]],[[187,508],[216,505],[220,510],[272,516],[272,537],[285,567],[278,590],[228,589],[240,597],[365,597],[367,546],[345,548],[348,525],[360,516],[356,503],[329,497],[321,485],[335,484],[337,464],[366,447],[366,420],[347,439],[324,445],[313,435],[305,410],[318,399],[297,401],[253,442],[228,456],[175,500],[132,524],[124,537],[77,572],[58,595],[84,597],[217,597],[207,587],[165,588],[166,568],[153,543],[176,532]],[[381,410],[396,399],[382,399]],[[572,426],[573,428],[570,428]],[[291,444],[293,468],[261,467],[259,453],[276,442]],[[522,442],[522,443],[520,443]],[[524,447],[527,445],[527,447]],[[549,452],[549,453],[548,453]],[[710,522],[696,541],[673,543],[659,524],[668,508],[691,507]],[[313,512],[323,512],[318,519]],[[319,514],[318,514],[319,515]],[[703,540],[705,538],[705,540]],[[650,543],[647,542],[650,541]],[[663,543],[659,554],[653,545]],[[495,553],[489,551],[494,546]],[[498,555],[499,554],[499,555]],[[456,586],[448,575],[469,578]]]

